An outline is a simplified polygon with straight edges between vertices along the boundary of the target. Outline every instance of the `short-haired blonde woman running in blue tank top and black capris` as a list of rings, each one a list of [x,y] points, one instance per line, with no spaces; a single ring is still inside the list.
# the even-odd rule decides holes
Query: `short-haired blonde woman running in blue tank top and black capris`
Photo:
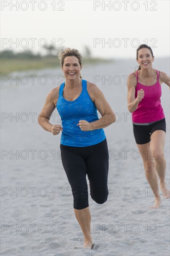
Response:
[[[74,198],[75,216],[84,235],[82,247],[93,249],[86,175],[92,199],[99,204],[106,202],[109,158],[103,128],[115,121],[115,115],[101,90],[82,80],[82,55],[78,50],[65,48],[58,57],[65,82],[48,94],[38,123],[53,135],[62,133],[62,163]],[[55,108],[62,125],[49,122]]]

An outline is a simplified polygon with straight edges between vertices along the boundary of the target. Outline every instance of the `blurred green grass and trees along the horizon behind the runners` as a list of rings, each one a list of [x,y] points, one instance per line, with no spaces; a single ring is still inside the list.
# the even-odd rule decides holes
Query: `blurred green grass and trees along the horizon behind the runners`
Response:
[[[31,51],[25,51],[22,53],[13,53],[11,50],[5,50],[1,52],[0,59],[0,74],[10,74],[13,71],[24,71],[31,69],[43,69],[46,67],[60,67],[57,54],[51,54],[51,49],[48,54],[41,56],[40,54],[33,54]],[[108,62],[101,58],[90,57],[88,49],[86,49],[85,57],[83,58],[83,64],[97,64],[100,62]]]

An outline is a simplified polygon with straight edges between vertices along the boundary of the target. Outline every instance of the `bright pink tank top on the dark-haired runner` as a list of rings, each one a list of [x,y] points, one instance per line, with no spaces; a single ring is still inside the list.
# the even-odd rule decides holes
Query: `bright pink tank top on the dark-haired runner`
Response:
[[[156,70],[157,72],[157,70]],[[159,71],[160,74],[160,71]],[[138,90],[145,91],[144,98],[139,102],[138,108],[132,112],[132,121],[135,123],[150,123],[164,119],[164,111],[161,105],[161,85],[159,83],[159,74],[157,72],[157,82],[151,86],[139,83],[137,71],[137,85],[135,88],[135,98]]]

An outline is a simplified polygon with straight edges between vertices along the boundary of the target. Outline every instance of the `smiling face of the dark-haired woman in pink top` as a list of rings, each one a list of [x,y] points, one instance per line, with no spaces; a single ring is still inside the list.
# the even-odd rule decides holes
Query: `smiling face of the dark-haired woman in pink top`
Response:
[[[152,57],[151,51],[148,48],[142,48],[138,51],[137,61],[141,68],[151,68],[154,57]]]

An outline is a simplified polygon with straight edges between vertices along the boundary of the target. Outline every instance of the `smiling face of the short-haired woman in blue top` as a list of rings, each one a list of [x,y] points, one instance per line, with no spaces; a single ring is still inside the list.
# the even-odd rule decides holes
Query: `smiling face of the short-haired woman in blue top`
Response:
[[[67,56],[64,58],[63,73],[66,79],[75,80],[80,77],[82,66],[75,56]]]

